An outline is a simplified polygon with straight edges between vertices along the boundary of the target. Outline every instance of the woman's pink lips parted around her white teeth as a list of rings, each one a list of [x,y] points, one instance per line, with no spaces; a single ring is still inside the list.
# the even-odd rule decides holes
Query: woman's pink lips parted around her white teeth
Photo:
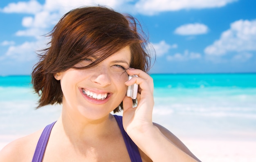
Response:
[[[83,93],[83,90],[89,90],[90,92],[94,92],[94,93],[97,93],[97,94],[99,94],[99,93],[108,93],[108,96],[104,100],[97,100],[97,99],[88,97],[86,94]],[[97,104],[97,105],[104,104],[104,103],[108,102],[108,100],[112,96],[111,92],[96,90],[96,89],[91,89],[91,88],[79,88],[79,91],[86,100],[88,100],[90,103]]]

